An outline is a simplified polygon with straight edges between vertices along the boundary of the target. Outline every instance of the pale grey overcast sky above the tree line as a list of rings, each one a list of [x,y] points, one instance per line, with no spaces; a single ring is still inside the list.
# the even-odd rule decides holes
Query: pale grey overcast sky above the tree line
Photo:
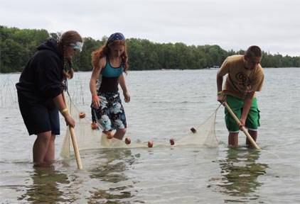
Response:
[[[0,25],[300,56],[297,0],[0,0]]]

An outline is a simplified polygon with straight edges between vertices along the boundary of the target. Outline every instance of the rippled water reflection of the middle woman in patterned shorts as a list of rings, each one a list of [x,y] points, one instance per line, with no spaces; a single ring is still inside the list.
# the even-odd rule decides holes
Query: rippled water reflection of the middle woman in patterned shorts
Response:
[[[124,203],[122,199],[134,197],[129,190],[133,186],[127,185],[128,182],[124,182],[128,180],[124,171],[135,161],[131,150],[106,149],[100,155],[100,159],[105,159],[105,162],[101,162],[94,169],[90,170],[92,173],[90,178],[114,183],[114,187],[112,188],[110,184],[108,189],[94,188],[97,190],[90,192],[92,193],[89,199],[90,203],[106,203],[107,200],[113,203]]]

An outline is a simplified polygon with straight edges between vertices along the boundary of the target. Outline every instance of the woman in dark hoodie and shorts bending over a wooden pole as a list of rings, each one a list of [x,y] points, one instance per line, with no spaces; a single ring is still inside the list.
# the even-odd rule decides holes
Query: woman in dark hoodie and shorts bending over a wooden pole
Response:
[[[60,40],[46,40],[23,69],[16,84],[18,105],[33,144],[35,166],[48,166],[55,159],[55,136],[60,135],[59,113],[70,127],[75,120],[63,100],[67,79],[72,79],[72,56],[82,49],[82,38],[74,30]]]

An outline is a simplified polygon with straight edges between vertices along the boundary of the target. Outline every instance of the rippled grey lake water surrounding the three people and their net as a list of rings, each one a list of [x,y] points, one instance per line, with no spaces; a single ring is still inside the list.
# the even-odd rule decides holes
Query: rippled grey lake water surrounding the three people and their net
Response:
[[[218,108],[217,69],[129,72],[132,96],[125,103],[132,141],[168,143],[198,127]],[[69,81],[70,96],[90,120],[90,72]],[[257,93],[261,127],[257,145],[227,147],[218,109],[218,147],[90,149],[60,158],[65,135],[56,139],[55,163],[33,169],[32,146],[16,102],[19,74],[0,74],[0,203],[299,203],[300,69],[264,69]]]

